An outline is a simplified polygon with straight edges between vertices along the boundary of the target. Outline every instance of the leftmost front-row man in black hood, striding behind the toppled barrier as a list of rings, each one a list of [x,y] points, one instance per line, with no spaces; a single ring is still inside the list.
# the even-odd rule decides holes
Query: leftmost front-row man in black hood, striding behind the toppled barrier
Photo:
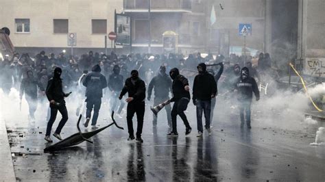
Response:
[[[49,122],[47,122],[45,134],[45,140],[47,140],[47,142],[52,142],[49,135],[51,134],[51,129],[54,121],[56,120],[56,114],[58,114],[58,111],[62,114],[62,119],[60,120],[56,132],[53,133],[53,136],[58,138],[58,140],[62,140],[60,133],[68,120],[68,111],[67,107],[65,106],[64,97],[69,96],[70,93],[66,94],[62,90],[62,79],[60,78],[61,74],[61,68],[57,67],[54,69],[53,78],[49,79],[47,82],[47,88],[45,91],[47,99],[50,103],[49,107],[51,108],[51,117],[49,118]]]

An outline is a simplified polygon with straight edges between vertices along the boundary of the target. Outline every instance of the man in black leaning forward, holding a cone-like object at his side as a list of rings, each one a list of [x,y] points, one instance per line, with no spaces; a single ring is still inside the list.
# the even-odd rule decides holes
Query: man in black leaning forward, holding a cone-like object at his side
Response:
[[[171,125],[173,129],[170,133],[167,134],[168,137],[178,136],[177,132],[177,115],[182,118],[184,125],[186,127],[185,135],[189,135],[191,133],[192,128],[189,125],[189,121],[184,114],[184,111],[189,104],[191,96],[189,94],[189,80],[186,79],[183,75],[180,75],[180,71],[178,68],[172,68],[169,71],[169,76],[173,79],[172,90],[173,90],[173,98],[171,98],[170,102],[175,102],[173,104],[173,109],[171,109]]]

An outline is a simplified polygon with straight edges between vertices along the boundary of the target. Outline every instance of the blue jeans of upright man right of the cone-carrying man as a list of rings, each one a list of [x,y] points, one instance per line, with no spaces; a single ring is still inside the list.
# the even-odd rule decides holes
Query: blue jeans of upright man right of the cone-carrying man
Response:
[[[196,100],[196,118],[197,118],[197,131],[203,132],[202,126],[202,114],[204,112],[204,118],[206,118],[206,129],[210,128],[210,113],[211,113],[211,101]]]

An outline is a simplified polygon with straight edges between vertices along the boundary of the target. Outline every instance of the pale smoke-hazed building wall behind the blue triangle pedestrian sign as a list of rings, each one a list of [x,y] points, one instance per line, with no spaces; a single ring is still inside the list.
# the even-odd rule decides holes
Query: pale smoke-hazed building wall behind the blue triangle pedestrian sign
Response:
[[[220,4],[224,8],[221,10]],[[208,2],[208,29],[229,33],[230,46],[243,47],[244,38],[239,36],[239,23],[252,23],[252,36],[246,37],[246,46],[264,50],[265,46],[265,0],[211,0]],[[210,12],[214,5],[216,22],[210,26]],[[220,35],[222,36],[222,35]],[[216,45],[218,46],[218,45]]]

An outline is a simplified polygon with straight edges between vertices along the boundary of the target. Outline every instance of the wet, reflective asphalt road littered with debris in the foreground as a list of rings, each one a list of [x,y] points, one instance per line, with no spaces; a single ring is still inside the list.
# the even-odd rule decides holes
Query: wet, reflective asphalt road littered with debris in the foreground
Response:
[[[263,113],[254,112],[252,129],[240,129],[237,110],[215,113],[213,134],[196,137],[193,106],[187,112],[192,133],[185,137],[178,118],[178,138],[167,138],[165,111],[152,127],[146,110],[143,144],[128,142],[125,118],[83,142],[56,153],[43,153],[46,121],[7,122],[14,170],[22,181],[324,181],[325,146],[310,146],[312,132],[263,126]],[[69,108],[69,107],[68,107]],[[105,105],[99,125],[104,126]],[[60,118],[60,116],[58,117]],[[108,117],[107,117],[108,118]],[[71,112],[62,137],[77,131]],[[136,122],[134,123],[136,124]],[[58,121],[53,126],[57,126]],[[134,125],[136,126],[136,125]],[[54,140],[58,142],[58,140]]]

